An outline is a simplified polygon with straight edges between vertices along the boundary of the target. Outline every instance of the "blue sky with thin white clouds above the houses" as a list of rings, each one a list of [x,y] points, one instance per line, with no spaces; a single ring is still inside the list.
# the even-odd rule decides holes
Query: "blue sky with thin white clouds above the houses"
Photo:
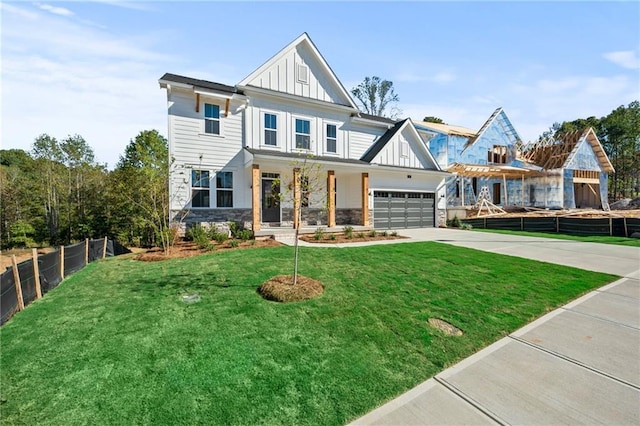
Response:
[[[640,98],[639,2],[2,1],[2,149],[82,135],[113,167],[166,136],[171,72],[237,84],[307,32],[347,89],[394,82],[403,117],[522,138]]]

